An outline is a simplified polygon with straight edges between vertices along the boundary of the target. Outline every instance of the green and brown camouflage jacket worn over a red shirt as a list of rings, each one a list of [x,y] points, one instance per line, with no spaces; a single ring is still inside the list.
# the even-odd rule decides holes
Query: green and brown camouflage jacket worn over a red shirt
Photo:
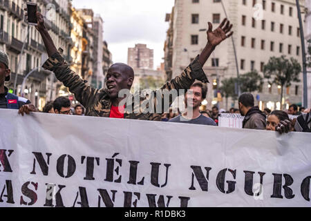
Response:
[[[87,116],[94,117],[109,117],[111,112],[111,99],[107,89],[97,89],[88,85],[87,81],[84,81],[79,75],[75,74],[73,70],[70,70],[70,66],[66,63],[62,55],[59,52],[55,52],[54,55],[48,58],[44,63],[43,68],[46,70],[51,70],[55,73],[55,76],[59,81],[62,81],[64,86],[68,87],[71,93],[75,95],[75,98],[86,108]],[[131,103],[126,103],[126,110],[124,113],[125,119],[142,119],[142,120],[155,120],[160,121],[161,113],[164,113],[168,110],[164,109],[164,105],[160,111],[153,111],[157,113],[151,113],[152,111],[147,112],[150,104],[156,109],[156,104],[164,102],[162,100],[156,99],[156,93],[159,91],[162,92],[164,89],[167,90],[187,90],[190,88],[194,81],[200,80],[202,82],[209,82],[207,76],[205,75],[198,57],[191,62],[191,64],[175,79],[172,79],[170,82],[167,82],[159,90],[153,91],[155,96],[146,96],[140,97],[139,102],[134,102],[134,97],[131,100]],[[139,93],[139,92],[138,92]],[[136,94],[136,93],[135,93]],[[153,99],[152,101],[150,99]],[[169,105],[172,104],[174,97],[170,96]],[[145,108],[142,108],[144,104]],[[147,105],[146,105],[147,104]],[[128,105],[131,105],[133,111],[127,111]],[[160,112],[160,113],[159,113]]]

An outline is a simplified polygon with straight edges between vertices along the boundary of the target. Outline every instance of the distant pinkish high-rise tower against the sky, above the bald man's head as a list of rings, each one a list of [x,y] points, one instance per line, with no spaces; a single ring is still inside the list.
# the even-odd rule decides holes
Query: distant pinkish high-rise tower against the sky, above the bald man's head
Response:
[[[135,48],[128,50],[127,64],[134,69],[153,69],[153,49],[146,44],[135,44]]]

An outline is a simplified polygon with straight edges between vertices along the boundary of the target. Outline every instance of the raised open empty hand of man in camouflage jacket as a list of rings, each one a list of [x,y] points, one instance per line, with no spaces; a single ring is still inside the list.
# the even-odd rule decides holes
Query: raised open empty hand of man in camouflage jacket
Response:
[[[232,24],[227,19],[223,19],[223,22],[220,23],[220,26],[213,31],[213,25],[209,22],[209,30],[207,30],[207,40],[211,46],[218,46],[222,41],[231,37],[234,32],[232,30]]]

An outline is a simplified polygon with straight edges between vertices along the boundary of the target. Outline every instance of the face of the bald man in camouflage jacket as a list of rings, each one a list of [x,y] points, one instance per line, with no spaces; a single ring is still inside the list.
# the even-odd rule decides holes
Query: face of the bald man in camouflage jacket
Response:
[[[111,99],[118,97],[120,90],[131,88],[131,78],[120,66],[111,66],[106,75],[106,86]]]

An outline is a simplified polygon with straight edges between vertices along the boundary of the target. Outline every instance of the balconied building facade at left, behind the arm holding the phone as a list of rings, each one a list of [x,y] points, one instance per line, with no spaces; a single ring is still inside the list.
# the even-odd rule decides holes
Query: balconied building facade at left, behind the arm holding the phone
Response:
[[[46,20],[46,28],[57,48],[68,57],[70,39],[69,0],[35,1]],[[23,0],[0,1],[0,49],[10,59],[11,81],[6,84],[11,92],[30,99],[39,109],[57,95],[59,85],[52,73],[42,70],[48,55],[39,32],[24,21]],[[31,73],[30,73],[31,72]],[[26,78],[26,76],[30,75]],[[15,78],[17,79],[15,84]],[[23,84],[24,83],[24,84]],[[23,84],[23,86],[22,86]]]

